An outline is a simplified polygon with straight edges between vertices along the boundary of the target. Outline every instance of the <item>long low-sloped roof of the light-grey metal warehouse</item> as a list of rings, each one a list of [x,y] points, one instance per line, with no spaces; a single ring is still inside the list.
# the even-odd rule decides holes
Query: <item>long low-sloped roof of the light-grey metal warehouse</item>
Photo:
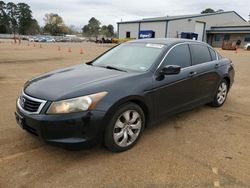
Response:
[[[243,21],[246,22],[246,20],[244,18],[242,18],[237,12],[235,12],[235,11],[225,11],[225,12],[216,12],[216,13],[207,13],[207,14],[189,14],[189,15],[180,15],[180,16],[164,16],[164,17],[155,17],[155,18],[144,18],[144,19],[141,19],[141,20],[118,22],[117,24],[171,21],[171,20],[188,19],[188,18],[196,18],[196,17],[205,17],[205,16],[213,16],[213,15],[227,14],[227,13],[235,13]]]

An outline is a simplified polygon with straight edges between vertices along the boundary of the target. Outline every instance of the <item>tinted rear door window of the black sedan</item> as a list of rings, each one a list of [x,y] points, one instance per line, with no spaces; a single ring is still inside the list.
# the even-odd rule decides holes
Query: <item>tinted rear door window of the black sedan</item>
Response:
[[[192,64],[198,65],[201,63],[211,61],[210,52],[208,51],[208,47],[201,44],[191,44],[192,50]]]

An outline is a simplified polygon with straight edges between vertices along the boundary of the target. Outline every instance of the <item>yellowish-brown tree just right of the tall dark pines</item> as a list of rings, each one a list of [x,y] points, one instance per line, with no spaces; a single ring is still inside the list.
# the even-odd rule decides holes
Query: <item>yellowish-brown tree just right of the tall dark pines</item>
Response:
[[[58,14],[45,14],[44,22],[44,31],[50,33],[51,35],[61,35],[69,32],[69,29],[65,26],[62,17]]]

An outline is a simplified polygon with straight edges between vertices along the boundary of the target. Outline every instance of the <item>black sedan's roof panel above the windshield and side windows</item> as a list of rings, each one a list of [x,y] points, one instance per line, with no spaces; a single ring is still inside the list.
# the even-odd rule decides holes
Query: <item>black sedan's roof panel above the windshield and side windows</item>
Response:
[[[197,40],[190,40],[190,39],[180,39],[180,38],[154,38],[154,39],[137,39],[129,41],[129,43],[155,43],[155,44],[164,44],[164,45],[172,45],[182,42],[191,42],[191,43],[200,43],[205,44],[207,43],[197,41]]]

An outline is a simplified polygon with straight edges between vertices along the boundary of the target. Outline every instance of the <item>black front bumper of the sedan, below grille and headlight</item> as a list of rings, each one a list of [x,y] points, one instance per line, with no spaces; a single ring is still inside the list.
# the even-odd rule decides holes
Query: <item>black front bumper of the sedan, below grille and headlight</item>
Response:
[[[104,130],[105,113],[88,111],[64,115],[26,114],[18,107],[16,120],[21,127],[41,140],[61,146],[89,147]]]

